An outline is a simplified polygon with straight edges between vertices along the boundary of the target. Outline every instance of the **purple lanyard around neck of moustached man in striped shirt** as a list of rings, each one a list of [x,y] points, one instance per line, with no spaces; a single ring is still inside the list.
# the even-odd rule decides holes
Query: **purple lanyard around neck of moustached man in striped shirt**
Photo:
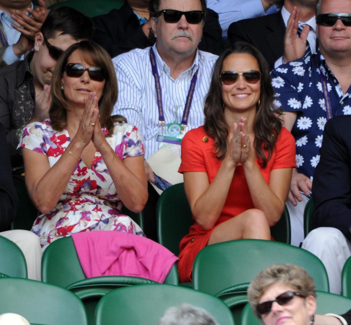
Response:
[[[156,63],[156,59],[155,59],[155,53],[154,53],[152,47],[150,48],[150,62],[151,62],[152,74],[153,74],[154,79],[155,79],[155,90],[156,90],[157,107],[158,107],[158,120],[161,123],[162,127],[164,127],[165,116],[163,114],[162,92],[161,92],[160,81],[159,81],[160,76],[157,72],[157,63]],[[182,130],[184,130],[185,127],[188,125],[188,115],[189,115],[189,111],[190,111],[191,102],[192,102],[193,97],[194,97],[194,89],[195,89],[195,85],[196,85],[196,81],[197,81],[198,71],[199,71],[199,69],[196,70],[196,72],[194,73],[194,75],[191,79],[189,92],[188,92],[188,95],[186,96],[186,105],[185,105],[183,117],[181,119]]]

